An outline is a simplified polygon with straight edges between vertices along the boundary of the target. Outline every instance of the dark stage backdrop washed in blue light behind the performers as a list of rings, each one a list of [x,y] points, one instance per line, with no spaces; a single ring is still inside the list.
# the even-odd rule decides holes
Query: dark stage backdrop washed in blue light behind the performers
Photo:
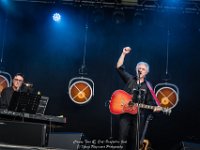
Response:
[[[60,23],[52,20],[56,10],[62,15]],[[178,86],[180,99],[170,116],[154,116],[147,137],[155,150],[170,149],[183,140],[200,142],[200,16],[167,10],[146,10],[136,16],[134,10],[124,10],[125,21],[116,24],[113,9],[105,8],[104,17],[96,21],[94,10],[38,3],[1,5],[1,70],[12,76],[24,73],[35,91],[50,97],[45,114],[67,118],[56,131],[81,132],[89,139],[117,138],[118,117],[112,116],[111,133],[107,102],[114,90],[124,86],[115,70],[122,48],[133,49],[125,61],[127,70],[134,74],[136,63],[147,61],[148,80],[155,86],[163,82],[169,37],[169,82]],[[69,98],[68,83],[81,76],[86,23],[85,77],[94,81],[95,93],[89,103],[79,106]]]

